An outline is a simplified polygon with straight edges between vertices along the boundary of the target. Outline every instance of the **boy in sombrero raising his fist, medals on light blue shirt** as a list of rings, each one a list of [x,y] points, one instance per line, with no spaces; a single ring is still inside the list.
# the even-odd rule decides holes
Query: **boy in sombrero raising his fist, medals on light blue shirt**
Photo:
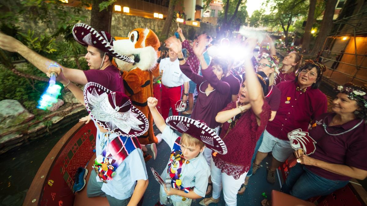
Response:
[[[167,195],[171,196],[174,206],[191,205],[192,199],[205,196],[210,168],[203,156],[206,147],[226,154],[227,149],[221,138],[208,128],[204,122],[183,116],[171,116],[164,121],[157,111],[156,98],[148,98],[148,107],[152,113],[157,128],[162,132],[162,138],[172,149],[170,160],[161,178],[170,176],[172,188],[167,191],[160,187],[160,201],[156,206],[166,203]],[[182,133],[179,137],[170,126]]]

